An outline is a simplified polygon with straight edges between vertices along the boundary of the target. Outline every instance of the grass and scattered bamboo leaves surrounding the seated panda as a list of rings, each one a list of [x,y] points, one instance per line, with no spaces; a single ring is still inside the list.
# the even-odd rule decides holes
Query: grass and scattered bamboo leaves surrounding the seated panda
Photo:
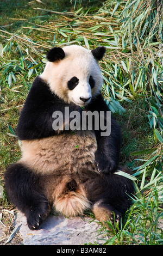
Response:
[[[121,229],[103,229],[111,235],[104,243],[162,245],[162,1],[42,2],[0,2],[0,185],[7,166],[20,158],[18,116],[46,51],[54,45],[104,45],[103,95],[122,127],[121,163],[137,179],[133,206]],[[5,189],[1,206],[14,209]]]

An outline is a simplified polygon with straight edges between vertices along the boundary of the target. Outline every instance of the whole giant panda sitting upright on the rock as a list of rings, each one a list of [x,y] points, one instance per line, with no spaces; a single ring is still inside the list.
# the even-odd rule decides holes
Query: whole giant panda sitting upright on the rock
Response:
[[[127,211],[133,181],[115,174],[119,166],[121,129],[111,115],[111,132],[102,136],[95,129],[65,129],[72,117],[54,129],[57,115],[75,111],[82,122],[83,112],[110,112],[101,88],[99,60],[105,47],[93,50],[78,45],[54,47],[47,64],[29,91],[17,125],[21,159],[5,172],[5,187],[13,204],[36,229],[52,209],[64,216],[82,215],[91,210],[95,218],[114,223]],[[93,123],[94,122],[94,123]],[[125,170],[124,170],[125,172]],[[115,216],[115,217],[114,217]],[[114,220],[113,220],[114,219]]]

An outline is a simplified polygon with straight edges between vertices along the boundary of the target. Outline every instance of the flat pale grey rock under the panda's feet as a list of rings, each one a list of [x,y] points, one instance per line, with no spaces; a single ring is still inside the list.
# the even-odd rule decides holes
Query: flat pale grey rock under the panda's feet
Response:
[[[26,217],[18,212],[15,228],[21,225],[20,233],[23,245],[84,245],[96,243],[102,245],[104,235],[99,233],[101,225],[92,218],[85,216],[65,218],[64,216],[49,215],[37,230],[30,230]]]

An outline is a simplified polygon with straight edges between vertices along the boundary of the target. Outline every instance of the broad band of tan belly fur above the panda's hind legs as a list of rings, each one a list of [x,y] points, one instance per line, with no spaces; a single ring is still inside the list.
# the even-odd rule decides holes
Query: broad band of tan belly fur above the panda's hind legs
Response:
[[[91,131],[21,142],[22,158],[32,171],[41,175],[68,175],[86,167],[95,169],[96,137]]]

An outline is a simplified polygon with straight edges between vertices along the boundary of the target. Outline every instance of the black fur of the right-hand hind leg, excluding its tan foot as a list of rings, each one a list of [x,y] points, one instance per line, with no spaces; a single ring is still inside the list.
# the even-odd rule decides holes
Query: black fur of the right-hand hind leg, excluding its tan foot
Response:
[[[118,167],[121,170],[121,167]],[[91,176],[91,174],[90,174]],[[134,193],[133,181],[117,174],[94,175],[85,182],[87,198],[92,203],[102,202],[111,205],[114,210],[125,214],[131,205],[130,194]],[[96,190],[95,190],[96,187]]]

